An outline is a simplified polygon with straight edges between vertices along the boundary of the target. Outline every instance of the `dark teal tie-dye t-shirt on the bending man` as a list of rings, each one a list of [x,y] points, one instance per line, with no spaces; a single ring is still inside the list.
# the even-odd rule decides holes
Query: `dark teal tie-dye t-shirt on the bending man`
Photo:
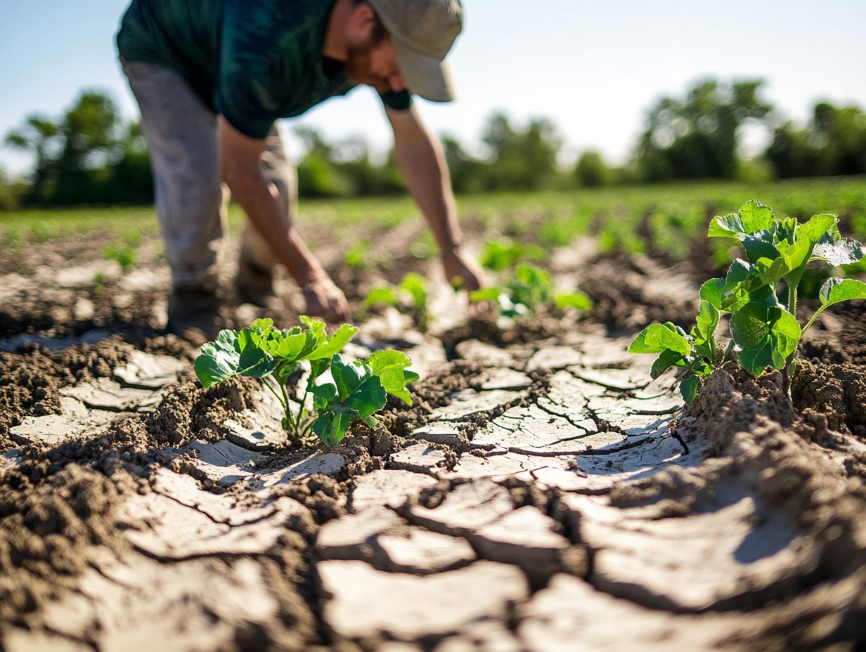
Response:
[[[322,55],[333,0],[133,0],[117,45],[126,61],[177,70],[239,132],[263,139],[276,119],[352,89]],[[410,94],[382,94],[405,110]]]

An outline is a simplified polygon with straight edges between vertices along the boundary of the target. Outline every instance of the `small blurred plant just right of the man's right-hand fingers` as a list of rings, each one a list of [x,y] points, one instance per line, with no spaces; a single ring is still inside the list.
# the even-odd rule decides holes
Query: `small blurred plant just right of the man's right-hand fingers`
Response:
[[[469,300],[491,301],[499,307],[501,326],[511,326],[521,317],[535,316],[540,307],[554,305],[561,310],[591,310],[592,300],[582,292],[562,293],[545,270],[521,262],[504,286],[485,287],[469,294]]]

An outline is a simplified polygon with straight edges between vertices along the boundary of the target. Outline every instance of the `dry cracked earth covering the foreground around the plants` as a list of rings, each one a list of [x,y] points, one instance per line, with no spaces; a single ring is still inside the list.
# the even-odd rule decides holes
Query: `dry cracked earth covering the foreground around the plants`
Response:
[[[793,403],[723,370],[682,410],[624,330],[694,284],[587,260],[560,271],[622,294],[533,341],[368,321],[349,353],[423,379],[335,449],[286,448],[254,379],[195,384],[153,274],[126,308],[73,283],[6,311],[0,647],[863,649],[863,314],[807,343]]]

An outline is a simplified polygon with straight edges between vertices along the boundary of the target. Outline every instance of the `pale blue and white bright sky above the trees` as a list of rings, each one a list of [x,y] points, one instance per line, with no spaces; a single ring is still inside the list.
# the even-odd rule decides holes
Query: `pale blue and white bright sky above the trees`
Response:
[[[127,0],[0,2],[0,134],[33,112],[60,113],[82,87],[106,89],[127,116],[136,107],[114,59]],[[520,123],[546,116],[569,149],[629,154],[662,93],[714,75],[762,77],[766,97],[805,119],[818,99],[866,107],[863,0],[464,0],[467,22],[451,55],[460,98],[422,102],[438,133],[475,141],[490,113]],[[285,123],[331,138],[390,136],[373,95],[359,89]],[[758,139],[754,136],[753,139]],[[26,159],[0,148],[0,166]]]

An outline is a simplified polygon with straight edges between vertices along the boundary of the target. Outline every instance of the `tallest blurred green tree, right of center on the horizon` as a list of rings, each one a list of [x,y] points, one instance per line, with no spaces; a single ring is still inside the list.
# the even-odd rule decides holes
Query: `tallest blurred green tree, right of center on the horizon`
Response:
[[[760,97],[763,81],[702,81],[684,100],[663,97],[650,110],[637,144],[637,164],[649,181],[734,178],[740,127],[761,120],[772,106]]]

